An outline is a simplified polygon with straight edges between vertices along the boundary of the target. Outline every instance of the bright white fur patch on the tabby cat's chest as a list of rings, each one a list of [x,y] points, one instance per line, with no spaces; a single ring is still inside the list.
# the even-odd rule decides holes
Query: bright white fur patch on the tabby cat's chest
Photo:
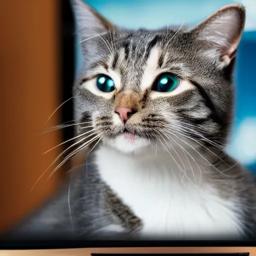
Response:
[[[142,220],[142,235],[225,239],[242,234],[238,203],[221,198],[204,181],[180,178],[169,157],[141,160],[100,147],[96,162],[102,179]]]

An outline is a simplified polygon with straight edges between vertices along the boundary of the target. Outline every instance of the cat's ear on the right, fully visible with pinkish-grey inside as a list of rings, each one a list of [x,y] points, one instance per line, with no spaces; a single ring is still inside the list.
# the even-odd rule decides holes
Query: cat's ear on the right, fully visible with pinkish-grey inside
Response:
[[[207,17],[191,32],[199,40],[218,52],[222,66],[227,66],[235,56],[244,28],[245,9],[239,4],[228,4]]]

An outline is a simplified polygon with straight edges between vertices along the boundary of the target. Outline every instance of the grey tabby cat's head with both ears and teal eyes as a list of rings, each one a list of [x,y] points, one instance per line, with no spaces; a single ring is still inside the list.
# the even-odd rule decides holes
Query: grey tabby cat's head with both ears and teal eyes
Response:
[[[226,5],[192,29],[135,31],[81,0],[72,5],[84,57],[73,89],[75,115],[86,141],[101,138],[123,152],[225,142],[241,5]]]

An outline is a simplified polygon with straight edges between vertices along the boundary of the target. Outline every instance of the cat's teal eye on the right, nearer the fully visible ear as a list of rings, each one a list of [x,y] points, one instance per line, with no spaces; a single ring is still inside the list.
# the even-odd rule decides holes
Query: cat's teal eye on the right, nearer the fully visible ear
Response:
[[[179,78],[171,73],[161,74],[155,81],[152,90],[159,92],[169,92],[174,90],[179,84]]]

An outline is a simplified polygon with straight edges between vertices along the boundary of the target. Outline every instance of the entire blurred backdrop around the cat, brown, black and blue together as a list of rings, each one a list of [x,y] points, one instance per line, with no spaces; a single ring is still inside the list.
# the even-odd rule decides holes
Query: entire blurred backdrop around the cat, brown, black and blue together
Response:
[[[253,0],[86,2],[126,28],[157,28],[183,22],[193,26],[224,4],[245,5],[245,31],[235,69],[235,122],[227,151],[256,173],[256,3]],[[66,164],[48,179],[54,166],[46,172],[45,169],[63,147],[47,154],[43,152],[71,138],[72,127],[40,133],[73,120],[72,82],[82,58],[73,33],[68,0],[1,1],[0,23],[3,27],[0,40],[2,232],[54,193],[70,169],[71,164]]]

